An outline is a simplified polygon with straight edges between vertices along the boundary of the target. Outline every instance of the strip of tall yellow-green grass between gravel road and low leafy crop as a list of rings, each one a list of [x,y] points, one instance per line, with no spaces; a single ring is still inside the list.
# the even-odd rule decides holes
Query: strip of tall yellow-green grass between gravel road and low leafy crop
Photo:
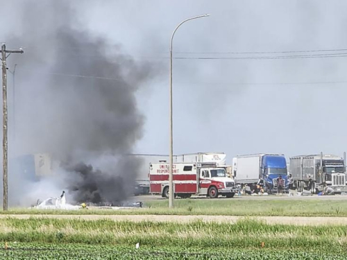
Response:
[[[184,248],[319,248],[347,249],[346,226],[267,225],[253,220],[236,224],[156,223],[112,220],[6,218],[0,223],[0,241],[84,243],[93,245],[171,245]]]

